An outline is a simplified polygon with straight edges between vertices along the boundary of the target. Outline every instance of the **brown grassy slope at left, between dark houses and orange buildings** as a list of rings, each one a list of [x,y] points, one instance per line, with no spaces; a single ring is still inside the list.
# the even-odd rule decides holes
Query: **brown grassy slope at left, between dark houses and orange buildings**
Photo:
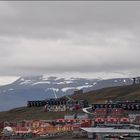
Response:
[[[20,121],[20,120],[52,120],[64,118],[65,114],[74,114],[82,112],[44,112],[43,107],[20,107],[6,112],[0,112],[0,121]]]

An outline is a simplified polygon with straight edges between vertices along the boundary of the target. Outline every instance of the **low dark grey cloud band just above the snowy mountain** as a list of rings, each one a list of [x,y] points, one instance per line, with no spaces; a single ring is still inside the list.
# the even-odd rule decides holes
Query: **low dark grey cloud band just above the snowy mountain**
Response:
[[[41,75],[44,73],[47,74],[53,74],[53,73],[118,73],[125,75],[125,72],[129,70],[129,72],[137,73],[139,74],[140,66],[138,65],[138,62],[136,64],[126,64],[126,63],[118,63],[118,64],[55,64],[52,66],[45,66],[45,65],[37,65],[37,66],[30,66],[23,64],[22,66],[16,65],[16,66],[6,66],[7,71],[5,68],[0,69],[0,73],[2,75]],[[10,70],[10,72],[8,71]],[[82,75],[81,75],[82,76]]]

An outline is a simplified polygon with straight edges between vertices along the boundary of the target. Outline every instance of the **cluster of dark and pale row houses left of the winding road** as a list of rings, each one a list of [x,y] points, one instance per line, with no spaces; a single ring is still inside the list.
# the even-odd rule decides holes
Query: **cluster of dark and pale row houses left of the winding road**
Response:
[[[87,100],[73,100],[68,98],[48,99],[42,101],[28,101],[28,107],[43,107],[45,112],[73,111],[88,107]]]

